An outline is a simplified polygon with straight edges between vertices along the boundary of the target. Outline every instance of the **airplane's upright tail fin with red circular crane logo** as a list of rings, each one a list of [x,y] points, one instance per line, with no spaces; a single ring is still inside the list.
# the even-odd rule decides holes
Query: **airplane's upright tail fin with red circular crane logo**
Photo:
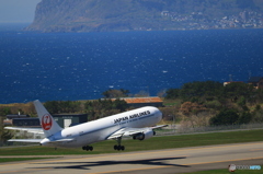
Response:
[[[57,124],[53,116],[47,112],[43,104],[37,100],[33,102],[37,116],[39,118],[43,131],[46,138],[53,136],[54,134],[62,130],[62,128]]]

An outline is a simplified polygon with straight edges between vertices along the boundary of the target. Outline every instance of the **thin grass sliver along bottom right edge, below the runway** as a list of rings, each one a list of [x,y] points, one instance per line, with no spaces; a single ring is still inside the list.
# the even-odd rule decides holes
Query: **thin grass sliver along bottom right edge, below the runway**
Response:
[[[211,171],[201,171],[201,172],[192,172],[185,174],[230,174],[227,169],[226,170],[211,170]],[[235,174],[262,174],[262,170],[237,170],[233,172]]]

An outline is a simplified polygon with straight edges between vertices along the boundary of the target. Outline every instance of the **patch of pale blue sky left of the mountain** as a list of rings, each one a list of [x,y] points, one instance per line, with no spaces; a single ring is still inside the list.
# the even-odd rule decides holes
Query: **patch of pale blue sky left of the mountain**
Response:
[[[42,0],[0,0],[0,23],[32,23]]]

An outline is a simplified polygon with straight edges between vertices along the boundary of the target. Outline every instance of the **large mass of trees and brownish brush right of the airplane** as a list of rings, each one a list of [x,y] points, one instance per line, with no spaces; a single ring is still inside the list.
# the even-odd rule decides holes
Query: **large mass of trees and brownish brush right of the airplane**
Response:
[[[196,81],[168,90],[165,100],[181,100],[173,115],[184,125],[197,127],[262,123],[262,96],[263,90],[242,82],[224,86],[215,81]]]

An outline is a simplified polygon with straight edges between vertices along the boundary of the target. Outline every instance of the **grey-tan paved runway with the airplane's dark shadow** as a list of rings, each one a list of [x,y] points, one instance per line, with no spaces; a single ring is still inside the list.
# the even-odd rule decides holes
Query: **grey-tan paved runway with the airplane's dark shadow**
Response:
[[[227,170],[229,164],[263,166],[263,141],[100,155],[65,155],[58,159],[2,163],[0,173],[174,174],[215,169]]]

